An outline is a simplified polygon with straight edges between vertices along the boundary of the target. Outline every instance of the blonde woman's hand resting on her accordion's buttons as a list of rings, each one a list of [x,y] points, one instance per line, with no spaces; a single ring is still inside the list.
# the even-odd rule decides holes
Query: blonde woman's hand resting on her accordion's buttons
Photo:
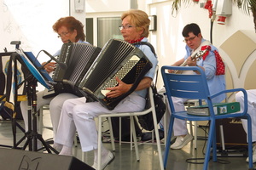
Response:
[[[126,84],[125,82],[122,82],[119,77],[115,77],[116,81],[118,82],[118,86],[113,87],[113,88],[107,88],[107,90],[110,90],[108,92],[107,98],[117,98],[121,94],[125,94],[128,92],[131,88],[131,84]]]

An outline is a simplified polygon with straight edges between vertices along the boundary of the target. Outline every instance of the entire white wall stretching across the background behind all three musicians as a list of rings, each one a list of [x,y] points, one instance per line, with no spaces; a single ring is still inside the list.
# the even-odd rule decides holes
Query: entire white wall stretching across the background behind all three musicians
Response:
[[[183,4],[179,13],[173,16],[173,1],[171,0],[137,0],[137,4],[134,6],[131,6],[131,2],[132,4],[136,3],[134,0],[85,0],[85,11],[77,13],[71,0],[0,0],[0,52],[3,52],[4,47],[9,51],[14,50],[15,47],[9,45],[9,42],[20,40],[21,47],[34,54],[38,54],[41,49],[55,53],[56,49],[61,47],[61,41],[56,38],[51,26],[60,17],[73,15],[84,23],[85,14],[93,18],[120,16],[123,11],[137,6],[148,14],[157,15],[157,31],[153,31],[149,39],[156,48],[160,66],[171,65],[183,57],[185,45],[181,35],[183,26],[195,22],[201,26],[203,37],[210,38],[208,11],[200,8],[199,3],[190,3],[187,6]],[[200,3],[205,3],[205,1],[201,0]],[[255,35],[252,15],[245,14],[235,5],[232,6],[232,10],[232,15],[226,20],[226,25],[221,26],[216,22],[213,25],[213,45],[216,47],[220,47],[239,30],[247,30],[251,32],[251,35]],[[96,22],[94,23],[96,25]],[[96,29],[96,26],[94,28]],[[256,37],[250,36],[250,38],[256,42]],[[224,58],[230,57],[222,55]],[[159,80],[158,86],[160,87],[162,86],[161,77]]]

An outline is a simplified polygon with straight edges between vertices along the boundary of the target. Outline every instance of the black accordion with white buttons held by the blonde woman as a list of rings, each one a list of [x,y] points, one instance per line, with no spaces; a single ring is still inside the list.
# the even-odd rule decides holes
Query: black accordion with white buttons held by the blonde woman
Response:
[[[151,62],[139,48],[123,40],[110,39],[85,73],[79,88],[90,99],[99,101],[108,110],[113,110],[122,99],[137,88],[150,68],[152,68]],[[106,97],[109,92],[106,88],[118,85],[115,77],[133,85],[126,94],[109,99]]]

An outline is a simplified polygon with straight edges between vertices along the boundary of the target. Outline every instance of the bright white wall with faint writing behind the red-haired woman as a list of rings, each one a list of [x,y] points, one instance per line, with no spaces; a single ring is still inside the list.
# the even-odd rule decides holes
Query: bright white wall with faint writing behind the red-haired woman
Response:
[[[70,3],[71,2],[71,3]],[[53,31],[52,26],[61,17],[73,15],[85,24],[85,12],[78,13],[71,0],[0,0],[0,53],[3,48],[15,51],[12,41],[20,41],[20,47],[32,51],[34,55],[42,49],[50,54],[61,48],[61,39]],[[48,60],[44,53],[38,60]],[[39,84],[38,89],[43,87]]]

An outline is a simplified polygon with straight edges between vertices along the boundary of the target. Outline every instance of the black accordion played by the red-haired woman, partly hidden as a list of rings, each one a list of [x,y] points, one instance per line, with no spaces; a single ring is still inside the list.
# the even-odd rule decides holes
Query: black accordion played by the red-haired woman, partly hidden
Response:
[[[59,65],[56,66],[53,77],[55,93],[84,96],[79,90],[79,82],[81,82],[100,51],[101,48],[94,47],[88,43],[64,43],[58,60],[67,65],[67,70],[62,69]]]

